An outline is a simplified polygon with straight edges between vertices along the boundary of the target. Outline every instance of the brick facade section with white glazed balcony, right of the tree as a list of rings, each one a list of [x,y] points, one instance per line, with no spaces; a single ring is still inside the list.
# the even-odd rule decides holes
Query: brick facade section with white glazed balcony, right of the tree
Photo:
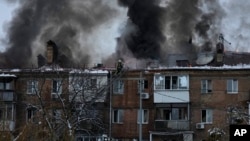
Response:
[[[229,140],[231,124],[248,124],[249,72],[247,67],[123,72],[113,84],[112,137],[138,140],[141,132],[150,141]]]

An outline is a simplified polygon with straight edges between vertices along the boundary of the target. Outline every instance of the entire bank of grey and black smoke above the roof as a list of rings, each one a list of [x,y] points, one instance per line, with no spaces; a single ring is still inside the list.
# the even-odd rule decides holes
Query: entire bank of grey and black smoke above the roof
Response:
[[[67,62],[82,65],[100,62],[105,57],[109,57],[105,63],[122,58],[127,64],[164,62],[173,53],[190,54],[193,58],[199,51],[212,50],[220,33],[236,42],[227,47],[232,50],[247,47],[250,38],[246,32],[250,20],[242,14],[248,13],[248,2],[12,0],[15,1],[20,7],[9,25],[8,44],[0,54],[0,66],[36,64],[48,40],[57,44],[59,62],[69,66],[72,64]],[[121,33],[110,33],[118,30]]]

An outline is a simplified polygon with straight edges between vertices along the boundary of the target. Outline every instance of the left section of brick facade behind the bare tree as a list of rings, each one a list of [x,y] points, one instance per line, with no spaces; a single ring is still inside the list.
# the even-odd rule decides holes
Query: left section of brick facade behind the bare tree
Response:
[[[1,139],[71,140],[72,134],[86,140],[107,134],[108,71],[46,66],[1,72]]]

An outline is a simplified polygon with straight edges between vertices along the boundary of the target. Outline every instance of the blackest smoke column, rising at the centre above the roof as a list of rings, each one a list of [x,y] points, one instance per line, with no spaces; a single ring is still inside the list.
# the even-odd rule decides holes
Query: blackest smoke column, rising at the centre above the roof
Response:
[[[124,37],[128,49],[136,58],[158,59],[165,40],[161,25],[164,10],[153,0],[120,0],[119,3],[128,6],[129,20],[136,28]]]

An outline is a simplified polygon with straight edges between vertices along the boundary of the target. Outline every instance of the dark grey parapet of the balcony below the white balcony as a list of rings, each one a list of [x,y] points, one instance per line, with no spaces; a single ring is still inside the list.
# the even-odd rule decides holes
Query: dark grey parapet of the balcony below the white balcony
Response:
[[[155,120],[156,131],[189,130],[188,120]]]

